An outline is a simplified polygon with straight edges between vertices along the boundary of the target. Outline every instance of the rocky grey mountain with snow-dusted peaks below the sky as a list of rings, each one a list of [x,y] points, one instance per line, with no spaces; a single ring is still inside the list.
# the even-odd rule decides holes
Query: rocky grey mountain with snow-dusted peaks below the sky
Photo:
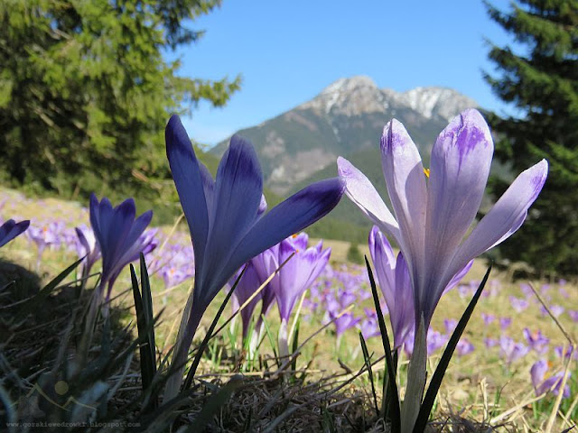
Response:
[[[266,185],[285,194],[315,172],[329,170],[339,155],[377,149],[393,117],[427,155],[452,116],[471,106],[476,102],[451,88],[398,93],[378,88],[368,77],[340,78],[312,100],[238,134],[255,144]],[[228,140],[210,152],[219,156],[227,145]]]

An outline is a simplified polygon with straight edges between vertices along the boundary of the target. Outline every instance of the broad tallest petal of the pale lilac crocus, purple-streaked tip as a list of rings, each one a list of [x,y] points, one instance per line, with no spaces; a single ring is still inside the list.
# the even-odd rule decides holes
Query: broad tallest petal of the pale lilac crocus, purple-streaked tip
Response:
[[[428,261],[425,281],[452,260],[476,217],[493,152],[488,124],[473,109],[455,116],[433,145],[425,247],[435,260]]]

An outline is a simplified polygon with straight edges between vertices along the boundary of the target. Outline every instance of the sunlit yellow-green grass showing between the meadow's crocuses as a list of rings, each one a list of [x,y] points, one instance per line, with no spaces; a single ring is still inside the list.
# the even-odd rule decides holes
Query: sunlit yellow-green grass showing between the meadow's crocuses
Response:
[[[5,190],[2,195],[5,205],[2,208],[2,217],[14,217],[23,219],[30,217],[33,224],[40,221],[59,219],[72,230],[74,226],[81,223],[89,224],[88,212],[79,204],[64,202],[56,199],[48,200],[28,200],[15,191]],[[154,220],[153,220],[154,225]],[[161,227],[163,236],[168,236],[172,232],[171,226]],[[162,239],[162,243],[163,244]],[[317,243],[318,240],[310,240],[310,244]],[[179,226],[172,233],[168,244],[188,244],[190,242],[188,232],[183,226]],[[325,240],[324,246],[330,246],[331,265],[340,268],[343,265],[349,272],[364,272],[359,266],[346,263],[349,244],[340,241]],[[359,250],[363,254],[368,254],[367,245],[359,245]],[[157,251],[157,254],[162,253]],[[36,263],[36,247],[26,238],[20,236],[11,244],[6,245],[0,255],[14,263],[21,264],[24,268],[33,272]],[[51,277],[61,272],[67,265],[77,259],[76,253],[67,250],[63,246],[48,249],[42,256],[41,267],[38,270],[43,281],[48,281]],[[95,268],[98,270],[98,266]],[[464,284],[470,281],[479,281],[486,271],[486,263],[480,259],[474,263],[471,272],[464,279]],[[71,277],[72,278],[72,277]],[[535,397],[532,383],[530,381],[530,367],[540,357],[547,358],[552,363],[550,373],[556,373],[564,368],[564,361],[555,356],[555,346],[567,346],[568,342],[563,333],[558,329],[555,322],[550,318],[538,302],[535,296],[527,295],[520,286],[520,283],[528,281],[510,281],[508,272],[492,272],[491,281],[485,290],[485,295],[480,299],[478,308],[474,312],[471,322],[464,332],[464,336],[475,346],[475,350],[468,355],[454,355],[450,368],[446,373],[445,380],[440,390],[437,413],[447,413],[448,411],[459,412],[471,419],[492,419],[499,417],[511,408],[521,405],[519,410],[512,413],[511,419],[519,426],[529,428],[543,428],[546,419],[549,417],[554,407],[555,396],[549,394],[541,401],[532,401]],[[96,279],[95,279],[96,281]],[[555,281],[532,281],[537,290],[541,290],[548,305],[559,305],[564,307],[564,312],[559,316],[560,322],[566,329],[575,334],[575,322],[570,318],[568,309],[578,309],[578,286],[568,282],[564,286]],[[153,291],[154,312],[163,311],[161,321],[155,327],[157,349],[161,355],[168,354],[176,337],[181,318],[182,308],[191,290],[191,280],[185,281],[177,287],[165,289],[163,279],[158,274],[151,275]],[[339,281],[332,281],[334,289],[340,286]],[[115,302],[130,311],[124,319],[126,324],[134,321],[134,307],[130,290],[129,272],[126,268],[120,275],[115,287],[113,297],[118,296]],[[367,283],[360,283],[357,290],[368,290]],[[511,306],[509,297],[529,299],[529,305],[523,312],[517,313]],[[204,336],[204,332],[209,327],[210,321],[219,308],[219,304],[224,298],[224,292],[213,301],[210,309],[205,314],[195,340]],[[459,319],[461,313],[466,308],[471,294],[464,295],[458,288],[453,289],[443,297],[438,309],[433,317],[433,329],[445,333],[445,319]],[[363,309],[373,308],[371,299],[359,301],[353,308],[354,314],[360,316]],[[221,318],[221,323],[230,315],[230,308]],[[256,309],[258,311],[258,307]],[[482,314],[493,315],[495,319],[492,323],[485,323]],[[260,350],[259,358],[248,368],[243,362],[243,348],[240,341],[240,319],[236,321],[235,327],[225,327],[209,345],[205,357],[203,358],[198,375],[206,376],[213,374],[245,373],[247,375],[259,375],[265,371],[275,370],[275,360],[273,359],[274,349],[276,349],[275,336],[279,326],[276,306],[266,318],[267,325],[273,338],[265,337]],[[501,329],[499,318],[511,318],[511,325]],[[312,312],[303,308],[300,320],[299,340],[303,341],[307,336],[311,336],[318,331],[323,322],[323,310]],[[488,348],[484,340],[486,338],[499,339],[499,336],[510,336],[517,342],[525,342],[523,329],[530,331],[540,330],[545,336],[550,338],[548,351],[544,355],[539,355],[535,351],[530,351],[523,358],[506,364],[499,355],[499,346]],[[331,324],[318,336],[303,347],[301,355],[297,358],[296,370],[307,370],[309,377],[314,378],[329,377],[336,373],[345,374],[342,379],[351,377],[357,373],[363,365],[363,356],[359,347],[358,329],[351,328],[345,332],[340,340],[340,345],[336,345],[335,327]],[[573,335],[575,338],[575,335]],[[378,337],[368,339],[369,353],[373,353],[373,359],[383,355],[383,348]],[[434,366],[441,356],[442,349],[438,350],[431,357],[431,364]],[[402,358],[406,360],[406,356]],[[572,376],[570,386],[572,395],[578,395],[578,369],[577,363],[572,364]],[[400,369],[406,368],[405,363],[401,363]],[[383,363],[374,367],[374,372],[381,378]],[[430,369],[432,371],[432,369]],[[403,395],[404,374],[400,374],[402,380],[401,393]],[[353,387],[364,387],[368,389],[368,377],[363,374],[353,382]],[[377,387],[381,389],[380,386]],[[573,398],[563,401],[562,411],[566,411],[573,403]],[[578,415],[578,410],[573,411],[573,417]],[[566,425],[566,427],[569,427]]]

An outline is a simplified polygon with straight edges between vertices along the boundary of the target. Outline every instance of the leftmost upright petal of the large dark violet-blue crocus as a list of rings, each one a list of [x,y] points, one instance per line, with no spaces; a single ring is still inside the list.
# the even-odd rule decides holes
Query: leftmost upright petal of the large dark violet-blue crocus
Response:
[[[187,218],[191,238],[195,245],[195,263],[204,262],[209,211],[205,198],[207,173],[200,167],[192,149],[191,140],[178,115],[172,115],[164,131],[166,156],[172,170],[172,180],[181,200],[182,211]]]

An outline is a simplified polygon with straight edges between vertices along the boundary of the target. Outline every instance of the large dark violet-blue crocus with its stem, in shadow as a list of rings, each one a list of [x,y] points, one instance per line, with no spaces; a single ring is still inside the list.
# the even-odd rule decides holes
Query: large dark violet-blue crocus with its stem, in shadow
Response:
[[[200,318],[228,279],[258,253],[324,217],[340,201],[344,182],[322,180],[264,215],[263,176],[252,144],[234,135],[213,180],[197,160],[179,116],[166,130],[166,152],[194,244],[195,281],[182,315],[164,399],[179,392]]]

